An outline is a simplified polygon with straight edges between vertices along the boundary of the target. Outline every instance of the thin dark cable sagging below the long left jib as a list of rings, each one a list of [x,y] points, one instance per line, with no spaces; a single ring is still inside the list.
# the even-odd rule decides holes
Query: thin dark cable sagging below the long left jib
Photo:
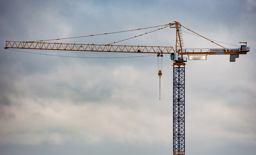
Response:
[[[7,49],[7,50],[11,50],[11,49]],[[13,50],[13,51],[31,53],[31,54],[36,54],[36,55],[48,55],[48,54],[43,54],[43,53],[26,52],[26,51],[21,51],[21,50]],[[152,57],[155,55],[143,55],[143,56],[134,56],[134,57],[74,57],[74,56],[66,56],[66,55],[48,55],[48,56],[71,57],[71,58],[91,58],[91,59],[114,59],[114,58]]]

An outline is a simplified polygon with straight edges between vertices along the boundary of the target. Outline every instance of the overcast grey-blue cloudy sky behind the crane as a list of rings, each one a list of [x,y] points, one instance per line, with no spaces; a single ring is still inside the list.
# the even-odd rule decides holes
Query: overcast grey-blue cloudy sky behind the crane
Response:
[[[255,0],[0,0],[0,155],[171,155],[173,67],[157,56],[4,50],[5,41],[56,39],[124,31],[173,21],[250,51],[188,61],[185,71],[187,155],[256,153]],[[59,40],[108,44],[150,30]],[[220,48],[182,29],[184,48]],[[58,40],[56,41],[58,42]],[[120,45],[175,46],[164,28]],[[229,45],[232,44],[232,45]],[[236,45],[236,46],[234,46]],[[54,57],[61,55],[71,57]]]

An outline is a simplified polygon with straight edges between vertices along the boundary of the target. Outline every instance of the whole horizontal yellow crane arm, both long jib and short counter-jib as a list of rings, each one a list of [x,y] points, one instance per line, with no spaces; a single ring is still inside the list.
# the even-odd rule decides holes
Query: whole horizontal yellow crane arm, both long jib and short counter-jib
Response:
[[[37,49],[37,50],[67,50],[84,52],[137,52],[137,53],[156,53],[161,50],[163,54],[175,52],[172,46],[130,46],[130,45],[98,45],[98,44],[70,44],[70,43],[46,43],[46,42],[25,42],[25,41],[6,41],[5,49]],[[246,54],[246,50],[241,48],[228,49],[223,48],[196,48],[184,49],[183,55],[233,55]],[[181,55],[181,52],[179,53]]]

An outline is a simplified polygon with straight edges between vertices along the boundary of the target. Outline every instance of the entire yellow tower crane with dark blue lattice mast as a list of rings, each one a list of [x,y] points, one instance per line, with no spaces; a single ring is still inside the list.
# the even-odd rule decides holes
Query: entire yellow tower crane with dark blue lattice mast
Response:
[[[161,30],[166,27],[175,28],[176,42],[173,46],[128,46],[128,45],[113,45],[111,44],[70,44],[70,43],[52,43],[45,41],[60,40],[49,39],[39,41],[6,41],[4,49],[18,48],[18,49],[36,49],[36,50],[66,50],[66,51],[83,51],[83,52],[122,52],[122,53],[153,53],[157,54],[157,57],[162,57],[163,54],[169,54],[171,60],[173,60],[173,155],[185,155],[185,65],[187,60],[204,60],[208,55],[230,55],[230,62],[234,62],[239,55],[245,55],[249,52],[250,48],[247,47],[247,42],[240,42],[240,48],[229,49],[221,46],[215,41],[208,39],[194,31],[182,26],[179,22],[171,22],[169,24],[152,26],[161,27],[155,31]],[[181,27],[195,33],[196,35],[203,37],[211,41],[213,44],[220,46],[221,48],[197,48],[197,49],[184,49]],[[141,30],[146,28],[139,28],[129,31]],[[127,31],[119,31],[114,33],[121,33]],[[151,33],[154,31],[150,31]],[[141,35],[145,35],[144,33]],[[106,35],[110,33],[103,33],[98,35]],[[139,37],[141,35],[135,36]],[[94,36],[94,35],[88,35]],[[88,37],[80,36],[80,37]],[[70,37],[75,38],[75,37]],[[70,39],[61,38],[61,39]],[[134,38],[134,37],[131,37]],[[128,38],[128,39],[131,39]],[[127,40],[127,39],[124,39]],[[124,41],[121,40],[121,41]],[[187,55],[188,57],[184,57]],[[162,71],[159,69],[159,78],[162,76]]]

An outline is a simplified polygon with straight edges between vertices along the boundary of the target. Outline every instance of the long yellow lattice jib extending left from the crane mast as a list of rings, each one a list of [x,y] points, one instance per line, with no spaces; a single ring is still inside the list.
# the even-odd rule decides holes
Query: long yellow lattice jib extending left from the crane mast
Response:
[[[175,52],[172,46],[129,46],[129,45],[97,45],[97,44],[70,44],[70,43],[45,43],[6,41],[5,49],[36,49],[36,50],[71,50],[84,52],[133,52],[157,53],[162,50],[164,54]]]

